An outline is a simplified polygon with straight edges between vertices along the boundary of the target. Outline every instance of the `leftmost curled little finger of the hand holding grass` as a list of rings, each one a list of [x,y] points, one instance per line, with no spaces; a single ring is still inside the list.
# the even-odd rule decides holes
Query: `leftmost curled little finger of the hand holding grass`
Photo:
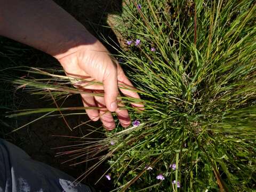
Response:
[[[90,94],[81,94],[82,101],[84,104],[84,107],[97,107],[93,96]],[[98,121],[99,120],[99,111],[98,109],[85,109],[86,114],[89,116],[92,121]]]

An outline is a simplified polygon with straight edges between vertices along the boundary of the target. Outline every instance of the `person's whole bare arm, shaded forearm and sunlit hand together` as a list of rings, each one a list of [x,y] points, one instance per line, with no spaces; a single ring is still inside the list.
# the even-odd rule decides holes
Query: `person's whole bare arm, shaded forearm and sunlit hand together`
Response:
[[[132,84],[118,62],[81,23],[50,0],[0,0],[0,4],[0,35],[51,54],[69,76],[103,83],[103,87],[92,85],[86,90],[103,90],[104,98],[82,94],[85,107],[102,107],[100,110],[86,109],[93,121],[100,118],[103,125],[112,130],[115,123],[109,111],[115,111],[124,127],[130,124],[127,110],[118,108],[116,97],[118,84]],[[121,91],[128,97],[139,98],[135,92]],[[105,106],[109,111],[103,109]]]

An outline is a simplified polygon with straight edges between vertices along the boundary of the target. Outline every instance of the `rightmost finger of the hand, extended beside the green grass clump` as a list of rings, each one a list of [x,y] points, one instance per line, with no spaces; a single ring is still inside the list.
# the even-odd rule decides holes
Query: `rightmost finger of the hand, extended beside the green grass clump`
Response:
[[[126,96],[126,97],[131,97],[135,99],[140,99],[139,94],[136,92],[135,87],[132,85],[130,80],[126,77],[124,74],[123,69],[119,66],[118,67],[118,86],[121,92]],[[142,103],[131,103],[132,106],[139,108],[140,110],[144,110],[144,106]]]

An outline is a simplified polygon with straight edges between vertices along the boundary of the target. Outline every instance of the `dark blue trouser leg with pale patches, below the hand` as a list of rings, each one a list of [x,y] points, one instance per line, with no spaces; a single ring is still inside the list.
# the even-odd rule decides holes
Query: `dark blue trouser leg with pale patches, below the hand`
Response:
[[[0,139],[0,192],[91,192],[74,178],[31,159],[25,151]]]

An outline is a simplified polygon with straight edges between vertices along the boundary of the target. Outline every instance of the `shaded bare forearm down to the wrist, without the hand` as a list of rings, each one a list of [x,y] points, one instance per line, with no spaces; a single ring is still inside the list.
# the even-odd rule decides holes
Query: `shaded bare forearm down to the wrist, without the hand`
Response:
[[[0,0],[0,35],[60,59],[97,41],[51,0]]]

